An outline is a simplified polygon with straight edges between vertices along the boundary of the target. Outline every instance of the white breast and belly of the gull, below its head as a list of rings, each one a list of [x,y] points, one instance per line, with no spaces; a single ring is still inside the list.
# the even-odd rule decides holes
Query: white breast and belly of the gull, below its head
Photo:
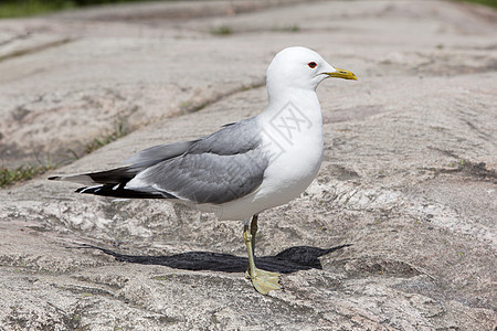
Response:
[[[307,98],[308,100],[309,98]],[[317,97],[288,102],[258,116],[263,150],[269,156],[261,186],[250,195],[220,205],[221,220],[244,220],[299,196],[313,182],[322,160],[322,119]],[[276,110],[274,110],[276,109]]]

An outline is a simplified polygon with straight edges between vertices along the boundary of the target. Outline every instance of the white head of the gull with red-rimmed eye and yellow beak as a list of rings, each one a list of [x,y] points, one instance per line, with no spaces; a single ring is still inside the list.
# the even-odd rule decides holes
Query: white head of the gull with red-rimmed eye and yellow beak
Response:
[[[356,79],[349,71],[329,65],[318,53],[306,47],[288,47],[281,51],[267,68],[267,89],[316,90],[319,83],[329,77]]]

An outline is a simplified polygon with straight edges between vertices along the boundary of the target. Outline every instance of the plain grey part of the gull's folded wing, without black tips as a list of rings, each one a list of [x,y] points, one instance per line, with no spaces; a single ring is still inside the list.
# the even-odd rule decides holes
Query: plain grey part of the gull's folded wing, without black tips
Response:
[[[126,188],[220,204],[258,188],[267,163],[261,130],[254,119],[248,119],[195,141],[181,156],[144,170]]]

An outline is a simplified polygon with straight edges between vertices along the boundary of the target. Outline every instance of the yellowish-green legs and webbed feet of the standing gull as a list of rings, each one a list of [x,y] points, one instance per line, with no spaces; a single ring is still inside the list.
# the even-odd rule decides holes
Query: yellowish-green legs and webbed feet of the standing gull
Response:
[[[246,223],[243,227],[243,239],[248,255],[248,268],[246,276],[252,280],[252,285],[262,295],[267,295],[271,290],[282,289],[279,286],[279,274],[271,273],[255,267],[255,234],[257,233],[257,215],[252,217],[251,226]]]

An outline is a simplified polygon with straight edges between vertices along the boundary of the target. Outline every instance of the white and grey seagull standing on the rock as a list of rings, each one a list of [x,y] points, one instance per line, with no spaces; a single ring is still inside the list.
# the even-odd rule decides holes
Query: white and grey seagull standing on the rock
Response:
[[[267,68],[268,104],[257,116],[195,140],[150,147],[119,168],[49,180],[86,185],[78,193],[166,199],[243,221],[246,277],[267,295],[282,289],[281,275],[255,266],[258,214],[299,196],[318,173],[324,140],[316,88],[329,77],[357,81],[313,50],[284,49]]]

